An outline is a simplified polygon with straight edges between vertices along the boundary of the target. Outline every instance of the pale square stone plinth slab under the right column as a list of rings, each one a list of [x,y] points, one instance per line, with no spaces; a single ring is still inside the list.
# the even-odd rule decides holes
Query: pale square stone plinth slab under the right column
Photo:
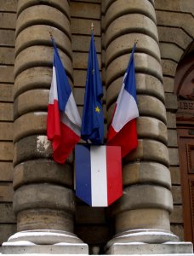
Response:
[[[113,244],[106,254],[128,255],[194,255],[191,242],[166,242],[162,244],[146,244],[142,242],[128,242]]]

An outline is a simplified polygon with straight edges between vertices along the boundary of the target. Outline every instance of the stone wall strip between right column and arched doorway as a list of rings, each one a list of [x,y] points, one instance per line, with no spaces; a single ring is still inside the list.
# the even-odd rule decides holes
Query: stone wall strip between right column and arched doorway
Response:
[[[178,106],[177,96],[174,95],[174,76],[180,58],[194,38],[194,6],[191,0],[156,0],[155,6],[167,109],[169,164],[173,184],[174,212],[170,217],[171,230],[183,240],[180,162],[175,115]]]

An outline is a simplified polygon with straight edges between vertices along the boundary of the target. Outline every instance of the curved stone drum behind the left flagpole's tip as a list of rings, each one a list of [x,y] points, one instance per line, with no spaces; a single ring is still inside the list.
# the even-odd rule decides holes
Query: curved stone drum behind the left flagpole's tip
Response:
[[[17,36],[15,41],[15,55],[18,55],[22,49],[32,45],[47,44],[53,45],[50,39],[50,33],[54,37],[54,42],[58,48],[66,52],[71,57],[71,40],[60,29],[47,25],[34,25],[26,27]]]

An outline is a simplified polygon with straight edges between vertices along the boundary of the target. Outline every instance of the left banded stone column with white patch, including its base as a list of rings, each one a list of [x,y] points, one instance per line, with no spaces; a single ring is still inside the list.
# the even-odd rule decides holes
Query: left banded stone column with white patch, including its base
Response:
[[[72,52],[67,0],[19,0],[14,63],[14,212],[17,231],[3,245],[25,253],[88,253],[74,233],[72,155],[65,165],[52,160],[46,137],[48,94],[54,49],[72,84]],[[49,247],[64,243],[64,247]],[[41,250],[33,245],[48,245]],[[15,253],[15,251],[14,251]]]

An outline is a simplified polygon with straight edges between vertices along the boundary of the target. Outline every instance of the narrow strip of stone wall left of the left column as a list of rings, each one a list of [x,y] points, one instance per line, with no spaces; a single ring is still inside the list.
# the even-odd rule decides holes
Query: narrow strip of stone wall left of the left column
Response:
[[[0,3],[0,244],[15,232],[13,201],[13,86],[16,0]]]

